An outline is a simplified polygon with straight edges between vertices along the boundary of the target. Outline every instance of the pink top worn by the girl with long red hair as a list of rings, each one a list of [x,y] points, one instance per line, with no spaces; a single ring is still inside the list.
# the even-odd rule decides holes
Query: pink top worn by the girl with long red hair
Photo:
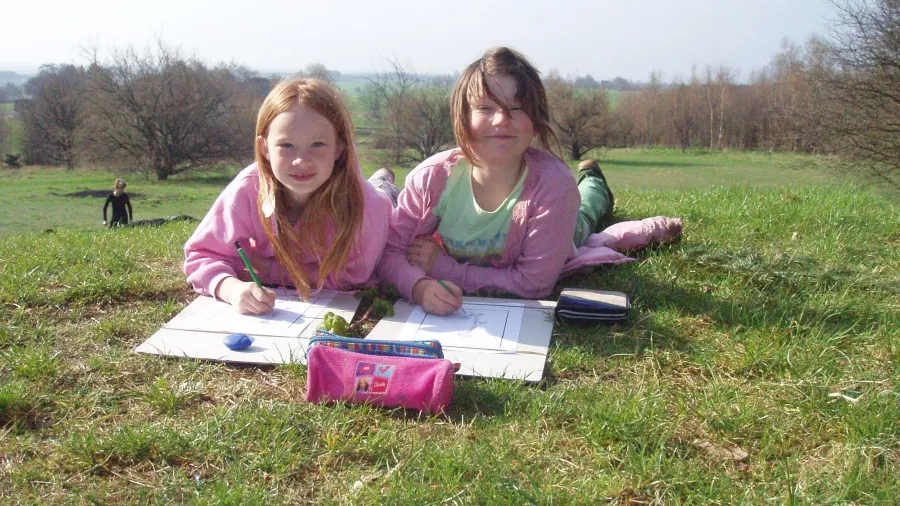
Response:
[[[234,246],[235,241],[240,241],[249,250],[249,239],[252,238],[256,242],[257,256],[275,257],[256,210],[259,194],[257,172],[255,163],[242,170],[225,187],[184,245],[184,273],[198,293],[214,295],[216,287],[228,276],[250,280]],[[350,251],[340,280],[329,277],[324,288],[346,290],[368,282],[384,249],[390,229],[391,202],[368,182],[363,181],[362,187],[365,209],[359,240]],[[298,233],[303,231],[298,230]],[[328,224],[326,237],[328,241],[333,240],[334,225],[331,223]],[[298,256],[298,260],[310,273],[310,282],[315,285],[318,282],[318,259],[311,254],[303,254]],[[287,270],[275,261],[268,272],[257,272],[257,275],[265,284],[292,284]]]

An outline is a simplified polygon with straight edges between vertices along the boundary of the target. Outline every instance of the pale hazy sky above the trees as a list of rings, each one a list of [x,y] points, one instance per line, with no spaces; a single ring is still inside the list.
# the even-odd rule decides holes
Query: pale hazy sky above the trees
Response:
[[[787,38],[824,35],[827,0],[13,0],[0,8],[0,70],[100,59],[162,41],[210,65],[262,74],[323,63],[342,73],[452,74],[493,46],[543,73],[646,81],[725,65],[746,80]]]

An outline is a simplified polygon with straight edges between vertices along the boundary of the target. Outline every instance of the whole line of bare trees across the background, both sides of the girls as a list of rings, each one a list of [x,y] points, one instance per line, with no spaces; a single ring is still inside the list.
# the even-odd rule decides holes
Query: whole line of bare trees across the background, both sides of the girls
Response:
[[[565,154],[580,159],[616,146],[838,153],[900,187],[900,4],[834,4],[839,15],[827,37],[786,41],[744,82],[725,66],[668,82],[654,72],[640,86],[549,72],[552,126]],[[334,76],[321,64],[301,74]],[[453,81],[397,62],[369,79],[357,100],[385,162],[414,164],[453,144]],[[115,161],[159,179],[245,161],[269,85],[246,69],[208,67],[162,44],[145,54],[117,52],[110,62],[94,56],[87,67],[46,66],[26,85],[26,159],[68,167]],[[6,131],[0,124],[0,141]]]

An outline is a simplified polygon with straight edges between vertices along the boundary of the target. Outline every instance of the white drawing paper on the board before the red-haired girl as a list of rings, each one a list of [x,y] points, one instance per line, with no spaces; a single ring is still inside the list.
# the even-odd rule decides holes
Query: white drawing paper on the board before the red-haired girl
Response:
[[[275,290],[275,307],[263,315],[242,315],[227,302],[192,318],[173,321],[170,328],[204,332],[242,333],[253,336],[298,337],[324,314],[336,292],[321,291],[301,301],[294,290]]]

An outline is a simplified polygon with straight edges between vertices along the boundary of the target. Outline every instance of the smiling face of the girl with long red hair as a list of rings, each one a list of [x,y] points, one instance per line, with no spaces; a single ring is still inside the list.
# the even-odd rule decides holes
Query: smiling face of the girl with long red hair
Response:
[[[256,138],[259,150],[272,165],[292,203],[303,205],[334,171],[343,146],[325,116],[300,104],[275,116],[269,133]]]

